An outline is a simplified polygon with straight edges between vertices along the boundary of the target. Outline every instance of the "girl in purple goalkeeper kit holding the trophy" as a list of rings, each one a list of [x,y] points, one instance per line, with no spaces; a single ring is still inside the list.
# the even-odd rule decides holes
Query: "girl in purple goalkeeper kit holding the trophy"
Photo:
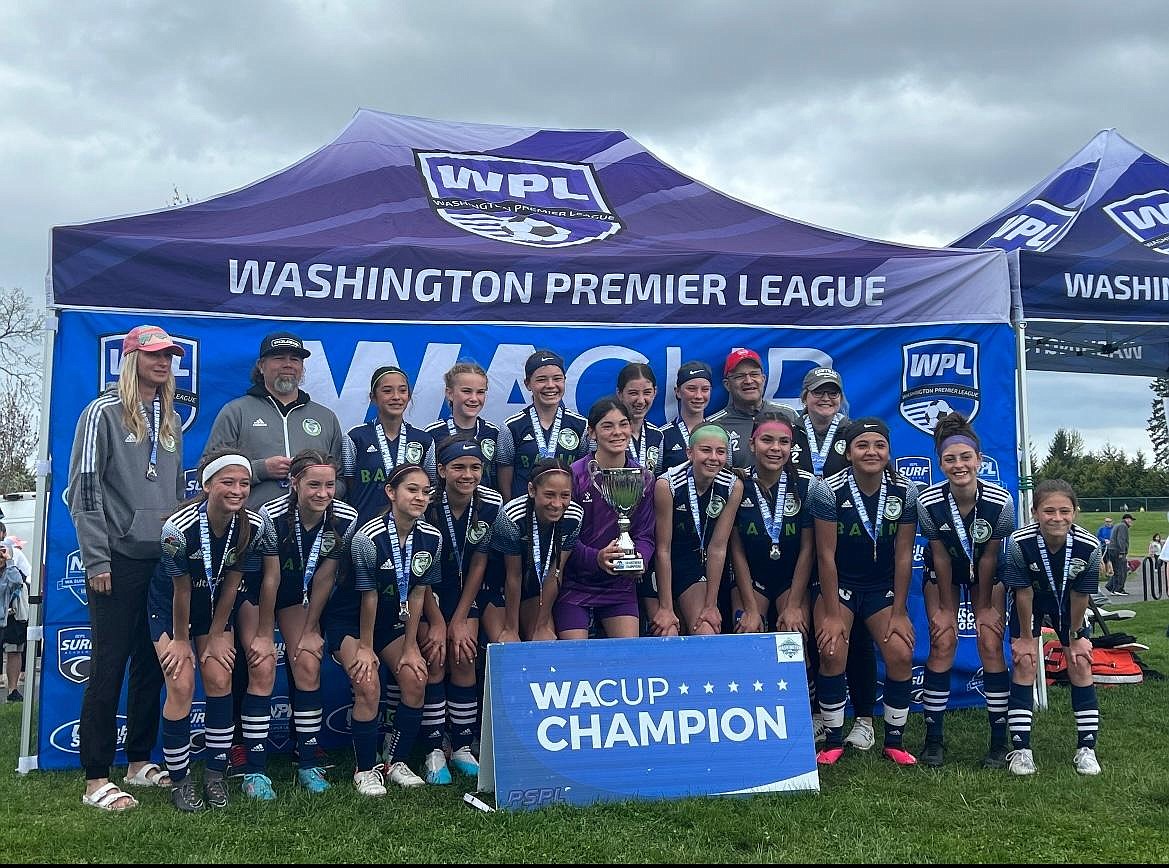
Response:
[[[636,583],[653,557],[653,475],[628,451],[631,426],[629,409],[616,397],[589,410],[596,451],[572,466],[583,521],[553,610],[561,639],[587,639],[594,616],[610,638],[638,634]],[[643,428],[643,445],[649,435]]]

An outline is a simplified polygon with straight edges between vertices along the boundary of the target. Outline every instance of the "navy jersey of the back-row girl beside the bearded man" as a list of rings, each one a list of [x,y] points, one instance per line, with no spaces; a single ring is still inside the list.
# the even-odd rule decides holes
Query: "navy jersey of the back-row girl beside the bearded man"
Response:
[[[435,468],[434,436],[409,422],[402,422],[397,437],[386,438],[382,450],[378,436],[381,425],[367,422],[352,429],[346,437],[351,449],[345,452],[341,477],[347,481],[345,500],[358,511],[361,525],[386,508],[386,477],[399,464],[417,464],[430,477],[431,485],[437,478]]]

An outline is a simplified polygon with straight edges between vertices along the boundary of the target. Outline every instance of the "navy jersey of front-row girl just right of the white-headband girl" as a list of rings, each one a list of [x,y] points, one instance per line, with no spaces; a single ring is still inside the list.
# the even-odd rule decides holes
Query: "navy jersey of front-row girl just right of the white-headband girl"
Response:
[[[311,528],[304,527],[296,507],[289,504],[286,497],[269,500],[260,512],[268,520],[269,532],[274,535],[271,544],[281,562],[281,585],[276,592],[277,609],[307,604],[307,596],[312,591],[312,578],[326,560],[337,562],[334,588],[340,586],[341,574],[348,571],[350,542],[358,523],[357,509],[344,501],[334,500],[330,513]],[[300,526],[299,535],[297,525]],[[248,590],[251,598],[253,589]],[[256,591],[258,598],[258,589]]]

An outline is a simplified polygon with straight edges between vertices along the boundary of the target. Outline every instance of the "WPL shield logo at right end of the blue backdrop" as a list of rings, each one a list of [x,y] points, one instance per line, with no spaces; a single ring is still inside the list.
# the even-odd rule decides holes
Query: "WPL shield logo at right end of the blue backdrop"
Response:
[[[901,347],[902,418],[927,435],[948,412],[968,421],[978,415],[978,345],[960,340],[926,340]]]

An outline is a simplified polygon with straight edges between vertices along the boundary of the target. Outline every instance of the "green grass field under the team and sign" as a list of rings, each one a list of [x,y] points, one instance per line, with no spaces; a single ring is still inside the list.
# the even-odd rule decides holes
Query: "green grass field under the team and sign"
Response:
[[[1123,623],[1169,673],[1169,602],[1134,603]],[[947,765],[898,769],[849,754],[821,775],[818,796],[628,803],[484,814],[462,804],[470,783],[357,796],[352,759],[336,755],[321,797],[293,789],[274,763],[279,799],[237,796],[223,812],[179,815],[146,790],[125,814],[81,804],[81,772],[18,776],[20,707],[0,706],[0,860],[5,862],[1157,862],[1169,857],[1169,682],[1100,690],[1104,773],[1072,769],[1067,692],[1037,713],[1039,773],[977,768],[985,715],[950,715]],[[921,743],[920,715],[906,743]],[[237,791],[236,791],[237,793]],[[490,799],[490,797],[489,797]]]

